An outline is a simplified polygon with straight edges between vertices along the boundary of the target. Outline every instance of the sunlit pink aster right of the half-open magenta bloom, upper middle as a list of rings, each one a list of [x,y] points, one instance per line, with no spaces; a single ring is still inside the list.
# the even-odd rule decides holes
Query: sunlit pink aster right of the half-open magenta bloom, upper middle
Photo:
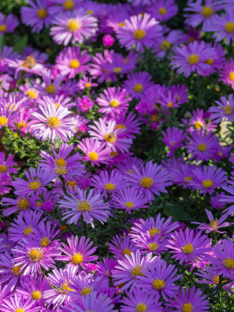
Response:
[[[104,94],[99,94],[96,101],[101,108],[98,112],[103,114],[121,114],[127,110],[129,102],[132,100],[128,97],[128,93],[125,89],[120,87],[112,87],[103,90]]]

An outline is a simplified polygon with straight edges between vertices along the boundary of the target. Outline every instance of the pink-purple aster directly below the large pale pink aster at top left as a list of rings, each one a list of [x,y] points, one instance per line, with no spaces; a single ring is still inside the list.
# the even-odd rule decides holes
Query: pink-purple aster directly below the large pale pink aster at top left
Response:
[[[64,48],[56,57],[56,67],[60,74],[68,75],[68,78],[74,78],[77,73],[84,73],[89,70],[89,65],[86,65],[91,60],[87,50],[81,53],[81,47],[69,46]]]

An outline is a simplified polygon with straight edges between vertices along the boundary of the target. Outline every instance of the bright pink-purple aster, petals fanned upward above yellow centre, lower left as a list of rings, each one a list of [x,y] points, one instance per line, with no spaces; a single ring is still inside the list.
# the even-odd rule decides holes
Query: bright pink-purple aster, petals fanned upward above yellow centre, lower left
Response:
[[[67,239],[67,243],[69,246],[62,243],[63,247],[59,247],[65,255],[60,255],[56,260],[69,262],[73,266],[82,266],[86,262],[97,260],[98,256],[92,255],[97,247],[91,248],[93,242],[89,243],[89,238],[85,240],[85,236],[82,236],[79,240],[77,235],[72,235]]]

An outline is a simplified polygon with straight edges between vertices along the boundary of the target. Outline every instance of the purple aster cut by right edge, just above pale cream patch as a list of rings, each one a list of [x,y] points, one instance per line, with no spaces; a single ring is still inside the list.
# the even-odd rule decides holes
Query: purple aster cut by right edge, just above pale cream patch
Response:
[[[234,117],[234,99],[233,95],[229,94],[228,98],[221,96],[220,101],[215,101],[219,107],[212,106],[209,111],[211,113],[211,120],[219,123],[222,120],[233,120]]]

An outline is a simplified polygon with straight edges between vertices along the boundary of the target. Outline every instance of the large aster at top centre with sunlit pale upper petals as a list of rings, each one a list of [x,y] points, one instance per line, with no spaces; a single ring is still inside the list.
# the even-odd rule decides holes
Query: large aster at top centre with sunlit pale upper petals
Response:
[[[125,19],[116,33],[121,46],[131,49],[136,45],[137,51],[143,52],[144,47],[150,48],[154,40],[162,35],[162,27],[155,18],[145,13]]]

